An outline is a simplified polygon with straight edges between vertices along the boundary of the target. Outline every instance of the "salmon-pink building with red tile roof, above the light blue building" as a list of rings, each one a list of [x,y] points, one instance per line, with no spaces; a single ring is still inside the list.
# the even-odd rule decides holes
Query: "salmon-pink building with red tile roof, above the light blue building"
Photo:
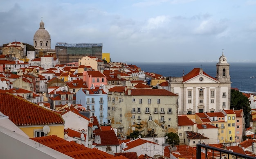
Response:
[[[87,87],[100,87],[101,85],[107,85],[107,77],[99,71],[84,71],[83,81],[87,83]]]

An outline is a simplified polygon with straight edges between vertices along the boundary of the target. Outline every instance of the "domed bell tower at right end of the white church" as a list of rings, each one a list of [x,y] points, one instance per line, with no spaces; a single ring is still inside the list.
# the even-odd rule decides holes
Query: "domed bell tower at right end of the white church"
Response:
[[[224,56],[224,50],[219,58],[219,62],[216,64],[216,79],[222,83],[230,83],[229,63],[227,63],[227,58]]]

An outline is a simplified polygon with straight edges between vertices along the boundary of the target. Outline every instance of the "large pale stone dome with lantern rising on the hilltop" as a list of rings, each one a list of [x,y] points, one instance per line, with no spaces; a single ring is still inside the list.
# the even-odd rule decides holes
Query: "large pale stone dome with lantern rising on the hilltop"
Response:
[[[34,34],[34,48],[36,50],[51,49],[51,36],[47,30],[45,30],[45,23],[43,19],[40,22],[40,27]]]

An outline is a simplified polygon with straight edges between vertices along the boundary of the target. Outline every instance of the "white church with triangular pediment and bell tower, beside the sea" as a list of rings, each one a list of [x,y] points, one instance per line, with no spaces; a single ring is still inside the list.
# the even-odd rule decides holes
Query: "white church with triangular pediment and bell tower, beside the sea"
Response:
[[[230,109],[229,63],[223,52],[216,64],[216,78],[206,74],[202,68],[194,68],[182,77],[171,77],[169,87],[171,92],[180,96],[179,114]]]

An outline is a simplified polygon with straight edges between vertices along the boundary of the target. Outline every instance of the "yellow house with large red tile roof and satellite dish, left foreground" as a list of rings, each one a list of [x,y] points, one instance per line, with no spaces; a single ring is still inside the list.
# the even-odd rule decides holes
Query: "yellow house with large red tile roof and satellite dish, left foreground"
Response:
[[[64,137],[64,120],[60,114],[9,93],[0,94],[0,101],[0,111],[30,138]]]

